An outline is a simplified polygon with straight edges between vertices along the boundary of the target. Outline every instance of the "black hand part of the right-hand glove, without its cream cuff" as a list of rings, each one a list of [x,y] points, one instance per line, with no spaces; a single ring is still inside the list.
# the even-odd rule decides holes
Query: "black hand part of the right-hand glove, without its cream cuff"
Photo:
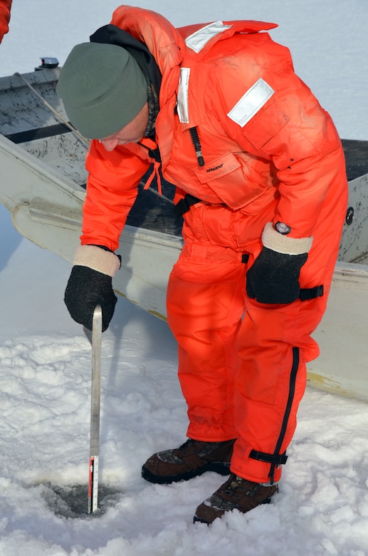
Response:
[[[246,274],[248,297],[259,303],[292,303],[300,296],[299,274],[308,254],[278,253],[263,247]]]

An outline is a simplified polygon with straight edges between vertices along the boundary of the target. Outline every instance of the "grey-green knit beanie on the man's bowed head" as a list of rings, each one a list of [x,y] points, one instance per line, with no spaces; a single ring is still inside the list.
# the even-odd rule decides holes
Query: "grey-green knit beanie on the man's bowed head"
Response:
[[[147,80],[121,46],[78,44],[56,87],[73,126],[88,139],[102,139],[130,123],[147,102]]]

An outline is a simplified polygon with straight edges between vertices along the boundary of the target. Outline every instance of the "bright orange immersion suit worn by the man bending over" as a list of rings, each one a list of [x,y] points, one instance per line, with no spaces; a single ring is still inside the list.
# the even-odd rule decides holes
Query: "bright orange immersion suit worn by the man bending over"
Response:
[[[82,244],[118,247],[158,147],[176,201],[196,197],[184,212],[184,248],[167,289],[188,436],[237,438],[231,471],[277,481],[305,365],[319,353],[311,334],[325,312],[347,208],[340,139],[295,75],[288,48],[266,32],[275,24],[174,29],[131,6],[117,8],[112,24],[145,43],[162,73],[156,140],[110,153],[92,141]],[[285,222],[290,237],[312,242],[299,278],[306,299],[262,304],[246,294],[268,222]]]

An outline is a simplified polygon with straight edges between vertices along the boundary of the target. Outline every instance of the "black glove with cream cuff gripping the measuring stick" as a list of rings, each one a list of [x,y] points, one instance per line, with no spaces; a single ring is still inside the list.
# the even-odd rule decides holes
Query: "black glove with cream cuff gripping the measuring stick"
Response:
[[[107,330],[117,297],[112,277],[120,268],[120,257],[105,247],[81,245],[75,250],[73,268],[65,289],[64,302],[70,316],[92,330],[96,305],[102,309],[102,332]]]

